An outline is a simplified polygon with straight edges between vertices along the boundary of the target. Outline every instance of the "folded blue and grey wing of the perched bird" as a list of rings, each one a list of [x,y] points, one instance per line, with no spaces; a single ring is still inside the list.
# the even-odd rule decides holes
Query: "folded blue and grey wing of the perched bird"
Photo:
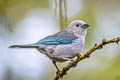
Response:
[[[77,37],[73,33],[67,31],[61,31],[54,35],[45,37],[37,42],[37,44],[45,45],[60,45],[60,44],[71,44]]]

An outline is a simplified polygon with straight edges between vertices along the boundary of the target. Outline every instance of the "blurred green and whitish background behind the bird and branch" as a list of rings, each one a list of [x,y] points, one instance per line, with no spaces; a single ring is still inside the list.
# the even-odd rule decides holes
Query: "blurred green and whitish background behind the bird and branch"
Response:
[[[56,69],[45,55],[8,46],[34,43],[75,19],[90,24],[84,53],[103,38],[120,37],[120,0],[0,0],[0,80],[53,79]],[[120,44],[106,45],[62,80],[120,80],[119,57]]]

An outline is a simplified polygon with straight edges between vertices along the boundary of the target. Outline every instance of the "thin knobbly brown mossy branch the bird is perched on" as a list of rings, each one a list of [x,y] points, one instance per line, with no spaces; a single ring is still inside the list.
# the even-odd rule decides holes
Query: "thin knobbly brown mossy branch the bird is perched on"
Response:
[[[70,68],[75,67],[78,64],[78,62],[80,62],[81,60],[83,60],[85,58],[88,58],[90,56],[90,54],[92,54],[94,51],[96,51],[98,49],[102,49],[103,46],[105,46],[106,44],[110,44],[110,43],[117,43],[118,44],[119,41],[120,41],[120,37],[117,37],[117,38],[114,38],[114,39],[111,39],[111,40],[103,39],[100,44],[95,44],[85,54],[81,55],[80,53],[78,53],[76,60],[74,60],[70,64],[66,65],[66,67],[63,67],[62,71],[60,72],[60,76],[63,77]],[[60,77],[58,75],[56,75],[54,80],[58,80],[58,79],[60,79]]]

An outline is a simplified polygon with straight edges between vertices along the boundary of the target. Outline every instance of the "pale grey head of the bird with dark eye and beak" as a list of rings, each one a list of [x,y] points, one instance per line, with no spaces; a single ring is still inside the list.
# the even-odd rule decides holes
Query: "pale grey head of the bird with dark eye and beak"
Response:
[[[68,32],[72,32],[78,36],[86,36],[87,28],[89,25],[82,20],[72,21],[65,29]]]

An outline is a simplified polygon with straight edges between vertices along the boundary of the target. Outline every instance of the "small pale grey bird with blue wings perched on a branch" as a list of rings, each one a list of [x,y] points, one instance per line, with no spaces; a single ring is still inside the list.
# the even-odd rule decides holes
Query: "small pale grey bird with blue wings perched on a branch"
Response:
[[[85,44],[85,37],[89,24],[83,20],[73,20],[67,27],[55,34],[47,36],[33,44],[11,45],[9,48],[35,48],[52,60],[57,69],[56,62],[72,60],[77,53],[80,53]]]

